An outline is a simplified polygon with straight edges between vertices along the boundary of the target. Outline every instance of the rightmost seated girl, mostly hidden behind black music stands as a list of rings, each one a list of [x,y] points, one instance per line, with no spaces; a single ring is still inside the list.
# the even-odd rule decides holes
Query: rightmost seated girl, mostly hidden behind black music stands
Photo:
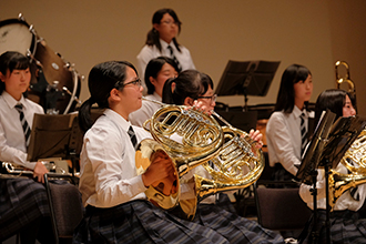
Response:
[[[356,114],[353,102],[346,91],[331,89],[321,93],[315,106],[315,122],[318,123],[321,114],[327,109],[336,114],[336,120],[339,116],[353,116]],[[348,174],[347,169],[338,163],[335,169],[337,172]],[[326,243],[326,194],[325,194],[325,175],[324,170],[318,169],[316,189],[317,189],[317,226],[318,242]],[[311,192],[312,185],[302,184],[299,195],[309,209],[313,207],[313,194]],[[356,191],[353,191],[356,190]],[[350,189],[344,192],[336,201],[334,211],[329,214],[331,223],[331,243],[366,243],[366,218],[360,218],[357,211],[365,203],[366,185],[360,184],[356,189]],[[307,228],[307,236],[303,240],[304,243],[312,242],[312,224]]]

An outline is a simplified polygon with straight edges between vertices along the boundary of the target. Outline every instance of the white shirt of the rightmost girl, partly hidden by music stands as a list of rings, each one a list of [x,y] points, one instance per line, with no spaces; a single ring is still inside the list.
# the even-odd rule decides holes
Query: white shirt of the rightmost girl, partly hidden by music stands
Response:
[[[336,167],[336,171],[343,174],[347,174],[347,169],[339,163]],[[302,184],[299,187],[299,195],[303,201],[307,204],[309,209],[314,209],[314,200],[311,193],[312,185]],[[326,210],[326,194],[325,194],[325,177],[324,177],[324,170],[318,169],[317,182],[317,209]],[[343,210],[350,210],[350,211],[358,211],[366,197],[366,185],[360,184],[357,187],[357,193],[359,194],[359,201],[356,201],[349,193],[349,191],[344,192],[339,199],[336,201],[334,205],[334,210],[343,211]]]

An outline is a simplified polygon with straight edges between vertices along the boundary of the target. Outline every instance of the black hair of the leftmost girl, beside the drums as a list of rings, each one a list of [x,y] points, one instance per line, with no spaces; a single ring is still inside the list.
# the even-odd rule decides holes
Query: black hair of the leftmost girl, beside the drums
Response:
[[[7,71],[11,73],[13,70],[27,70],[30,68],[29,59],[20,52],[7,51],[0,55],[0,72],[7,75]],[[6,83],[0,82],[0,94],[6,90]]]

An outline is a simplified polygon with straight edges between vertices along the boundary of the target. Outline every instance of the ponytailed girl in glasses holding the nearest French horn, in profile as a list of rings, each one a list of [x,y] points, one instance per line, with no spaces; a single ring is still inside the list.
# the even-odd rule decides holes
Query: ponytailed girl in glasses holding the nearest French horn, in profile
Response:
[[[79,113],[80,126],[87,131],[80,160],[87,213],[73,243],[228,243],[148,201],[146,189],[174,169],[171,161],[156,159],[143,174],[136,173],[134,144],[151,135],[128,118],[140,109],[142,90],[135,68],[125,61],[103,62],[89,73],[91,96]],[[94,103],[105,111],[92,124]]]

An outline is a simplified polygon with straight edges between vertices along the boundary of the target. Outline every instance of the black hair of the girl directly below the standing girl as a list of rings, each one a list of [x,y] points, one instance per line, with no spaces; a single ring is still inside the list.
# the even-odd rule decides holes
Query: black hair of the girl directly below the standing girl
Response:
[[[150,82],[150,78],[157,78],[157,73],[162,70],[163,65],[167,63],[174,68],[174,70],[179,73],[179,68],[176,62],[167,57],[157,57],[155,59],[150,60],[145,70],[145,84],[148,87],[148,94],[153,94],[155,91],[155,87]]]

